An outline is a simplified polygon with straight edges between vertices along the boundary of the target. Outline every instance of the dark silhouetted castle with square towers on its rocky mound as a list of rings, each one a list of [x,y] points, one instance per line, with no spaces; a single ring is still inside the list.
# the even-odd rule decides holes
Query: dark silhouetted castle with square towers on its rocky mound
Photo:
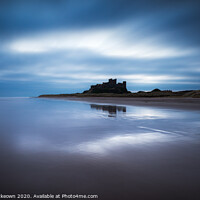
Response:
[[[123,83],[117,83],[117,79],[109,79],[108,82],[102,84],[91,85],[89,90],[85,90],[83,93],[129,93],[126,89],[126,81]]]

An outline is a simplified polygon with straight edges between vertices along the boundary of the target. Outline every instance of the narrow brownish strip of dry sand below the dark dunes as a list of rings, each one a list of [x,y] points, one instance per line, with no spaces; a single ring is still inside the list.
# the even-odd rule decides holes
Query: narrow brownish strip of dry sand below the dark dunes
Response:
[[[71,101],[83,101],[91,103],[102,104],[116,104],[126,106],[147,106],[169,109],[183,109],[183,110],[200,110],[200,99],[191,97],[182,98],[167,98],[167,97],[154,97],[154,98],[134,98],[134,97],[39,97],[39,98],[52,98]]]

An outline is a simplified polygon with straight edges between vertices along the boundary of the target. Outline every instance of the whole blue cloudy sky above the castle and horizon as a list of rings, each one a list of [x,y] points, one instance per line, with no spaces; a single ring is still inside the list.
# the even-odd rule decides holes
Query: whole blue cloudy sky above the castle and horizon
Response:
[[[0,96],[200,89],[199,0],[1,0]]]

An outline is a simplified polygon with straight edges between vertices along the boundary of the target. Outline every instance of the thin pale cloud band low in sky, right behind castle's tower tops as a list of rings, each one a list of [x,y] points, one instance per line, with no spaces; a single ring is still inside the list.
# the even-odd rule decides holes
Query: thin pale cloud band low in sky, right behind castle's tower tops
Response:
[[[80,70],[83,69],[82,72]],[[24,78],[23,78],[24,77]],[[127,80],[129,84],[164,84],[164,83],[176,83],[176,84],[199,84],[199,77],[191,76],[177,76],[177,75],[162,75],[162,74],[102,74],[84,71],[84,68],[70,68],[60,69],[49,67],[41,70],[38,69],[22,69],[21,71],[15,70],[1,70],[0,80],[19,80],[19,81],[33,81],[40,80],[44,82],[54,83],[91,83],[106,81],[109,78],[117,78],[119,80]]]

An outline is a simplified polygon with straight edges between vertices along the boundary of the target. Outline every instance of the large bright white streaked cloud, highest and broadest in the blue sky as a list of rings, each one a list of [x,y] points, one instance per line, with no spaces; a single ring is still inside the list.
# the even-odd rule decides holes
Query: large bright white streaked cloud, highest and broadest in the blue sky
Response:
[[[156,41],[154,37],[144,39],[135,31],[132,39],[127,38],[128,28],[92,29],[42,33],[32,37],[16,39],[7,44],[14,53],[41,54],[65,50],[86,50],[106,57],[128,59],[161,59],[188,56],[194,49],[179,49]],[[134,32],[132,30],[132,32]],[[129,33],[130,34],[130,33]]]

